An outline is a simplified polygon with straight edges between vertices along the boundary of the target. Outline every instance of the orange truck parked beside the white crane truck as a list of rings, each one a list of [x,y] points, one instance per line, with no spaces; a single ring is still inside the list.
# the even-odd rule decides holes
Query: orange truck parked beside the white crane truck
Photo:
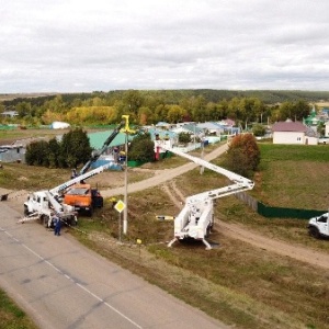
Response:
[[[103,206],[103,197],[90,184],[75,184],[64,196],[64,203],[71,205],[78,212],[88,213],[90,216],[95,207]]]

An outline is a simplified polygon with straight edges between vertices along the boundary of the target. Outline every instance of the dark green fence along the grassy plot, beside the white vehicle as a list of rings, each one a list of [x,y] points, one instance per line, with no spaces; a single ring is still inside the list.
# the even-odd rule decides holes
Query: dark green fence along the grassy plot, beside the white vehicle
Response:
[[[257,212],[264,217],[272,218],[298,218],[309,219],[315,216],[319,216],[327,211],[315,211],[315,209],[296,209],[296,208],[283,208],[283,207],[271,207],[266,206],[261,202],[258,202]]]

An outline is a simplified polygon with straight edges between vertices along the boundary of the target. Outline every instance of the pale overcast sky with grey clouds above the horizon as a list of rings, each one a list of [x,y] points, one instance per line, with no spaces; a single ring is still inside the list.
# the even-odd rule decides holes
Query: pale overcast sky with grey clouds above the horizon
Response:
[[[0,94],[329,90],[328,0],[0,0]]]

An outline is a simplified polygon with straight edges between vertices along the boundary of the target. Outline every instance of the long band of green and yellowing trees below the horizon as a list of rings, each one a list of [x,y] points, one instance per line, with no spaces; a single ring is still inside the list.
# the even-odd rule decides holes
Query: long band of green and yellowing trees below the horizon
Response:
[[[128,114],[131,122],[138,125],[228,117],[247,126],[286,118],[300,121],[309,114],[309,103],[327,99],[329,92],[309,91],[94,91],[7,100],[0,104],[0,111],[18,111],[18,118],[1,118],[2,123],[19,121],[23,125],[47,125],[54,121],[112,124]]]

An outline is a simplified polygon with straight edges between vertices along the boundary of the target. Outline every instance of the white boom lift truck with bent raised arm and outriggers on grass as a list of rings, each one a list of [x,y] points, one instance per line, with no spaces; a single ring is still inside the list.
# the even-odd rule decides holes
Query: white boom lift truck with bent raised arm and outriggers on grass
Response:
[[[214,225],[214,200],[242,191],[252,190],[254,186],[253,181],[232,171],[209,163],[203,159],[182,152],[175,148],[166,147],[160,143],[158,146],[174,155],[186,158],[202,167],[218,172],[234,182],[234,184],[228,186],[186,197],[183,209],[174,218],[174,238],[169,242],[169,247],[171,247],[173,242],[179,239],[182,240],[185,238],[193,238],[202,240],[206,246],[206,249],[212,249],[212,246],[206,241],[206,237],[211,232],[211,229]]]

